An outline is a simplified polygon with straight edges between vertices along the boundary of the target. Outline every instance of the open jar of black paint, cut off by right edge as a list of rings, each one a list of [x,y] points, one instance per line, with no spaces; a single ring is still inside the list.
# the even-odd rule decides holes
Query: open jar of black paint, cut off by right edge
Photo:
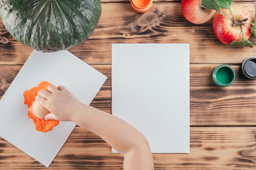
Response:
[[[242,71],[247,78],[256,78],[256,57],[249,57],[242,62]]]

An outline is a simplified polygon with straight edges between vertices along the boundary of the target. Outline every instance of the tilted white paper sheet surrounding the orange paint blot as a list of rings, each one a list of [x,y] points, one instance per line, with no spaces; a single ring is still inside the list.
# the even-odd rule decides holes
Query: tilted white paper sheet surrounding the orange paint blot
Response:
[[[81,102],[90,104],[106,79],[68,51],[34,50],[0,100],[0,136],[48,167],[76,125],[60,121],[52,131],[36,131],[23,104],[24,91],[47,81],[65,86]]]

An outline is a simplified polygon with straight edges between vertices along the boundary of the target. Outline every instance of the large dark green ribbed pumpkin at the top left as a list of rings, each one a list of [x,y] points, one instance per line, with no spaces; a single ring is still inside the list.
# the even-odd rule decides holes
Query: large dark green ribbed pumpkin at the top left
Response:
[[[43,52],[81,44],[92,35],[100,16],[100,0],[0,0],[0,17],[7,31]]]

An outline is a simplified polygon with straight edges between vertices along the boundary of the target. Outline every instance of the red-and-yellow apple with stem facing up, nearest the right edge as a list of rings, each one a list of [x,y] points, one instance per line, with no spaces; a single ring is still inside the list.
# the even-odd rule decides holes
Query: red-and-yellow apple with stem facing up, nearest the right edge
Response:
[[[232,3],[230,9],[220,9],[225,15],[216,13],[213,19],[213,31],[224,44],[232,41],[248,40],[252,35],[252,16],[244,7]],[[249,24],[246,24],[249,23]]]

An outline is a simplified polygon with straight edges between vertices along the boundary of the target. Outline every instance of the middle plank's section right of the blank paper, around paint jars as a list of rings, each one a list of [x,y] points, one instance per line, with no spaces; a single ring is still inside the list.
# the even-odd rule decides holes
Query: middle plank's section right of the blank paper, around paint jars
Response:
[[[191,64],[191,125],[256,125],[255,79],[247,79],[239,65],[231,65],[236,73],[233,84],[216,86],[211,78],[217,64]]]

